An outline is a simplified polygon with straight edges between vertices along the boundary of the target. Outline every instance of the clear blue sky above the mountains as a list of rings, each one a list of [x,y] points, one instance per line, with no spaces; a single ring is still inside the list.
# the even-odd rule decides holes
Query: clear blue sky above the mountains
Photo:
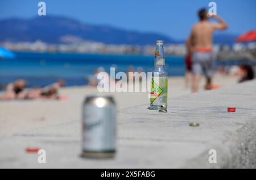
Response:
[[[42,0],[41,0],[42,1]],[[0,0],[0,19],[38,16],[37,0]],[[44,0],[46,15],[63,15],[80,22],[125,30],[158,32],[184,40],[197,10],[209,9],[206,0]],[[240,35],[256,29],[255,0],[215,0],[217,14],[229,24],[226,34]]]

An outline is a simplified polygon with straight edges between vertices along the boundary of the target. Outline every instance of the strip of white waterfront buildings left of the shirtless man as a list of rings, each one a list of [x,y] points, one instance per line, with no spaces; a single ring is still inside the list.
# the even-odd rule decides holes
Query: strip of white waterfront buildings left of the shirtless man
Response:
[[[26,52],[67,52],[67,53],[105,53],[105,54],[120,54],[120,55],[154,55],[155,45],[115,45],[104,44],[93,41],[83,41],[71,44],[47,44],[37,40],[35,42],[18,42],[0,43],[1,46],[10,49],[11,51],[26,51]],[[186,48],[184,44],[166,44],[164,46],[166,55],[184,56]]]

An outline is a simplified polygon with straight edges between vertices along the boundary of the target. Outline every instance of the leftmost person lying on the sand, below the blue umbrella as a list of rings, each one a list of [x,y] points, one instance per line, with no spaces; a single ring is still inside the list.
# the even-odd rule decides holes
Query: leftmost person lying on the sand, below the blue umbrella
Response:
[[[6,93],[0,94],[0,100],[13,100],[18,98],[19,94],[27,87],[24,79],[18,79],[6,86]]]

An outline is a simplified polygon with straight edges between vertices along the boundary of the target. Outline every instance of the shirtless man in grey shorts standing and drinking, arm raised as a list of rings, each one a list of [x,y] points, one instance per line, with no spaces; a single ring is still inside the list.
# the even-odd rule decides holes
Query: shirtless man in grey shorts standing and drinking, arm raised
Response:
[[[208,11],[202,9],[198,12],[200,22],[192,27],[191,35],[188,39],[189,49],[192,55],[192,92],[195,93],[199,89],[199,81],[201,74],[207,78],[205,89],[210,90],[212,87],[212,76],[214,73],[214,55],[213,55],[213,32],[216,30],[226,30],[228,24],[220,18],[213,15],[218,23],[208,22]]]

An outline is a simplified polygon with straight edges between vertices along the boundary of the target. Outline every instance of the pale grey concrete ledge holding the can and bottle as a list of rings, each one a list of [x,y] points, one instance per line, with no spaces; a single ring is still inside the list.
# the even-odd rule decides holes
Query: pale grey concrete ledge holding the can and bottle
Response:
[[[256,81],[170,99],[168,112],[148,104],[118,111],[118,153],[79,157],[80,120],[0,139],[1,168],[256,168]],[[227,112],[236,107],[237,112]],[[189,123],[200,123],[189,127]],[[47,163],[26,146],[47,151]],[[217,151],[217,163],[208,161]]]

